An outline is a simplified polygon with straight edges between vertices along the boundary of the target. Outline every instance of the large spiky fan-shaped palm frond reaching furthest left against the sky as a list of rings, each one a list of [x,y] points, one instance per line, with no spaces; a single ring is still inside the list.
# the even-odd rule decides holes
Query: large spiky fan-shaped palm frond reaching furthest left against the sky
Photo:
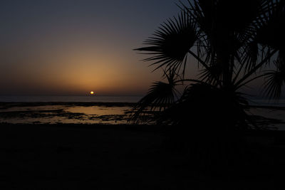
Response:
[[[185,70],[187,53],[197,41],[196,23],[185,11],[178,18],[163,23],[153,37],[145,41],[147,47],[137,48],[151,55],[145,61],[152,61],[157,68],[165,66],[179,71]]]

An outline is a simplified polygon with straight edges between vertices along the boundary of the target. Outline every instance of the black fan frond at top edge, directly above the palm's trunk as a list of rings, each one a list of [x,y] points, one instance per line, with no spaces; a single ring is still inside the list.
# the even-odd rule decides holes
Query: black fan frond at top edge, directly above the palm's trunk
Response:
[[[188,0],[188,9],[197,21],[199,31],[211,46],[234,52],[244,43],[250,23],[266,12],[264,0],[208,1]],[[185,4],[182,8],[185,9]],[[214,55],[212,55],[214,56]]]

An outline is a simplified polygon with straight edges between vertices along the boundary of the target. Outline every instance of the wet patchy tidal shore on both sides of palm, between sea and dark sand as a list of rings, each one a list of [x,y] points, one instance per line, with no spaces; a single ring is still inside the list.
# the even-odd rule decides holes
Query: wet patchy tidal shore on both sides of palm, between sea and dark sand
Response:
[[[0,102],[0,122],[19,124],[127,124],[133,102]],[[33,108],[34,107],[34,108]],[[261,127],[285,130],[285,107],[251,105]]]

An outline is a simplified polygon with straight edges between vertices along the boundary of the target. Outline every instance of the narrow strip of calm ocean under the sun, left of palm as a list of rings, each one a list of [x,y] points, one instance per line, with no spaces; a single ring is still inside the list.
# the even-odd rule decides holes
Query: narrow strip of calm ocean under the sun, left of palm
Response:
[[[0,102],[138,102],[142,96],[0,96]]]

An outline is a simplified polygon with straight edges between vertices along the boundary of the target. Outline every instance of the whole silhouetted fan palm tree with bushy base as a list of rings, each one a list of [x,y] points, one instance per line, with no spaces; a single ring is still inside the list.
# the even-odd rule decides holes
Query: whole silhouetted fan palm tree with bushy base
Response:
[[[155,110],[155,122],[172,125],[257,127],[241,88],[264,78],[264,94],[279,98],[285,82],[283,0],[187,0],[138,48],[167,82],[152,85],[134,120]],[[187,76],[189,56],[198,78]],[[269,70],[269,68],[271,70]],[[184,89],[181,94],[179,88]],[[157,110],[158,109],[158,110]]]

